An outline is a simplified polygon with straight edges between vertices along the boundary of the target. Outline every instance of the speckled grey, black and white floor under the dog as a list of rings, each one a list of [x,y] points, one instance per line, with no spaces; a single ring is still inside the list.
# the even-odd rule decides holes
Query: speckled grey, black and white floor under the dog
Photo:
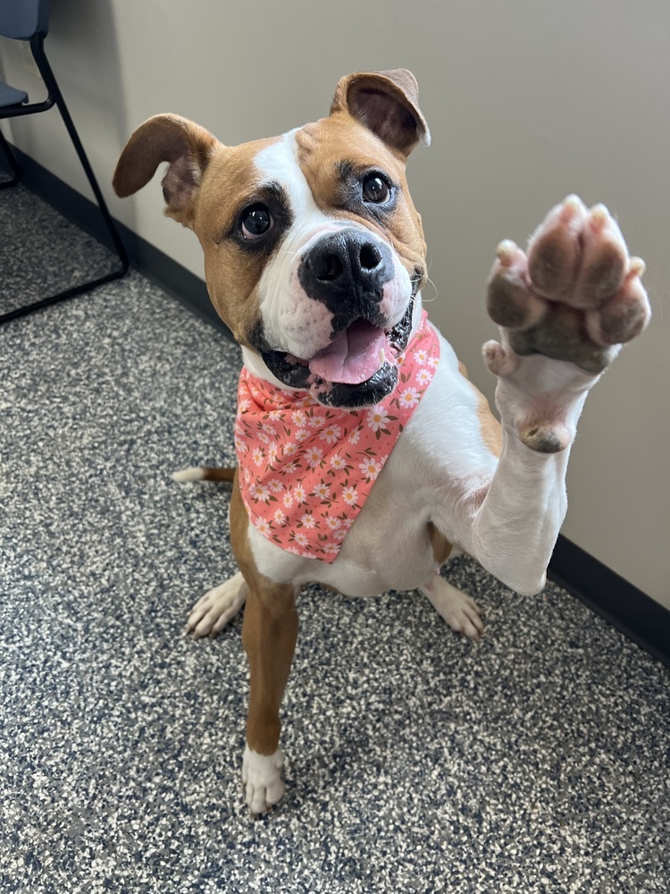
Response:
[[[0,228],[0,312],[90,248],[22,189]],[[465,558],[478,648],[415,594],[306,591],[288,795],[252,822],[241,620],[182,632],[233,569],[229,493],[170,477],[232,460],[238,369],[138,274],[0,329],[0,890],[667,892],[668,671]]]

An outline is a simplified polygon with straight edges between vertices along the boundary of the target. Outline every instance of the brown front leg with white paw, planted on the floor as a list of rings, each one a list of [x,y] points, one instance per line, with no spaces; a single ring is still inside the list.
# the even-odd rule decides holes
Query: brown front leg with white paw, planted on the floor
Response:
[[[248,587],[242,641],[250,671],[242,782],[251,813],[262,814],[281,800],[285,790],[279,712],[296,648],[297,594],[292,584],[276,584],[258,571],[247,526],[236,474],[230,498],[230,543]]]

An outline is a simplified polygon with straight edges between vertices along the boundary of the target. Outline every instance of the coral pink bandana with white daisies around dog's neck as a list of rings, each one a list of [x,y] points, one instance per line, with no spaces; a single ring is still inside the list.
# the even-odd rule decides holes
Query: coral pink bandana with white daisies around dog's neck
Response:
[[[374,407],[324,407],[243,367],[235,447],[254,527],[288,552],[335,561],[439,362],[438,335],[423,311],[398,358],[398,385]]]

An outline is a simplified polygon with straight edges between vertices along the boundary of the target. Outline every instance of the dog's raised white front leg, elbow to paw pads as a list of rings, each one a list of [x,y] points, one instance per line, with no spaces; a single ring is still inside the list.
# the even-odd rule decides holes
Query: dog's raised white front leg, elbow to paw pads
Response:
[[[483,352],[498,376],[502,452],[489,480],[461,485],[451,524],[445,516],[439,527],[519,593],[544,586],[586,395],[649,321],[643,269],[607,208],[574,196],[549,213],[527,253],[507,240],[498,248],[489,312],[501,337]]]

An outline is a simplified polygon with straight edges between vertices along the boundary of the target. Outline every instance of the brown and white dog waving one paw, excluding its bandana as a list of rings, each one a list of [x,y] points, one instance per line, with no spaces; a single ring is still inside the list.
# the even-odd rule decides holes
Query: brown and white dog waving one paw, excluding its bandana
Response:
[[[422,319],[425,244],[405,175],[422,140],[430,135],[411,72],[352,74],[339,81],[329,117],[237,147],[157,115],[124,148],[114,189],[129,196],[168,162],[166,214],[196,232],[209,294],[246,369],[316,405],[361,409],[394,392],[398,355]],[[284,792],[279,709],[301,586],[356,596],[418,589],[473,639],[479,610],[439,573],[451,544],[517,592],[540,591],[586,394],[649,320],[642,272],[607,208],[574,196],[549,212],[525,252],[502,242],[488,289],[500,342],[483,346],[502,425],[436,336],[430,387],[334,561],[287,551],[250,524],[236,475],[230,540],[240,570],[197,603],[188,627],[216,633],[247,603],[243,781],[253,813]]]

